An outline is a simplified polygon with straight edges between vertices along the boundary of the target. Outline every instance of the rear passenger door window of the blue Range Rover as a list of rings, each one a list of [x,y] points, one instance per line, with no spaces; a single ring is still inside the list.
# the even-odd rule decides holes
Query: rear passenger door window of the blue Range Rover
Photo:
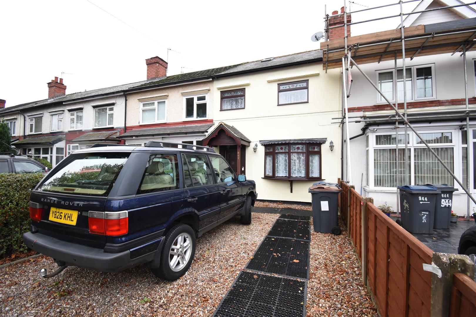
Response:
[[[184,154],[182,157],[185,157],[184,174],[187,173],[187,169],[190,171],[190,173],[188,173],[189,180],[187,180],[187,175],[185,177],[185,185],[187,187],[191,187],[191,184],[193,184],[193,186],[213,184],[213,176],[210,166],[208,166],[207,156]]]

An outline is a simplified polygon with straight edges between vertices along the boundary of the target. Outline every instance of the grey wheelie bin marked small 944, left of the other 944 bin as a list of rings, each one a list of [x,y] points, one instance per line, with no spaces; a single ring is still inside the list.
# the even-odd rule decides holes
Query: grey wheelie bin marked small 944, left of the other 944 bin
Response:
[[[435,201],[440,191],[432,185],[405,185],[398,188],[402,227],[411,233],[433,233]]]

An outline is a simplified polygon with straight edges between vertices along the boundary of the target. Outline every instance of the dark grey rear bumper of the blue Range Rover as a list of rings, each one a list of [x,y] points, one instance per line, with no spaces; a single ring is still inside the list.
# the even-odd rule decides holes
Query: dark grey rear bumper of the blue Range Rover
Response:
[[[159,245],[156,250],[135,257],[134,259],[131,259],[131,250],[108,253],[102,249],[55,239],[38,232],[27,232],[23,234],[23,242],[27,247],[57,261],[64,261],[67,265],[102,272],[119,272],[137,264],[152,261],[157,252],[158,255],[160,255],[164,239],[162,237],[154,241]],[[150,246],[150,243],[146,244],[146,246]]]

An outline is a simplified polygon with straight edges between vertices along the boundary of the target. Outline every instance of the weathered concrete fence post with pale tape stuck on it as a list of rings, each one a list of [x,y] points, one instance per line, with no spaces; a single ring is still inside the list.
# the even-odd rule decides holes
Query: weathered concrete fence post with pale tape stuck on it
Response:
[[[453,274],[463,273],[474,279],[475,265],[467,255],[448,253],[433,253],[431,264],[433,268],[429,269],[434,273],[431,276],[431,316],[446,317],[449,316]]]

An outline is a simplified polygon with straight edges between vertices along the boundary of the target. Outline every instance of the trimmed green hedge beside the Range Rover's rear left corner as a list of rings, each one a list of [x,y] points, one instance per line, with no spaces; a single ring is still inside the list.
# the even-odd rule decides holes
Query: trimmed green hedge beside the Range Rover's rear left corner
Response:
[[[21,235],[30,230],[30,193],[43,173],[0,174],[0,258],[26,251]]]

